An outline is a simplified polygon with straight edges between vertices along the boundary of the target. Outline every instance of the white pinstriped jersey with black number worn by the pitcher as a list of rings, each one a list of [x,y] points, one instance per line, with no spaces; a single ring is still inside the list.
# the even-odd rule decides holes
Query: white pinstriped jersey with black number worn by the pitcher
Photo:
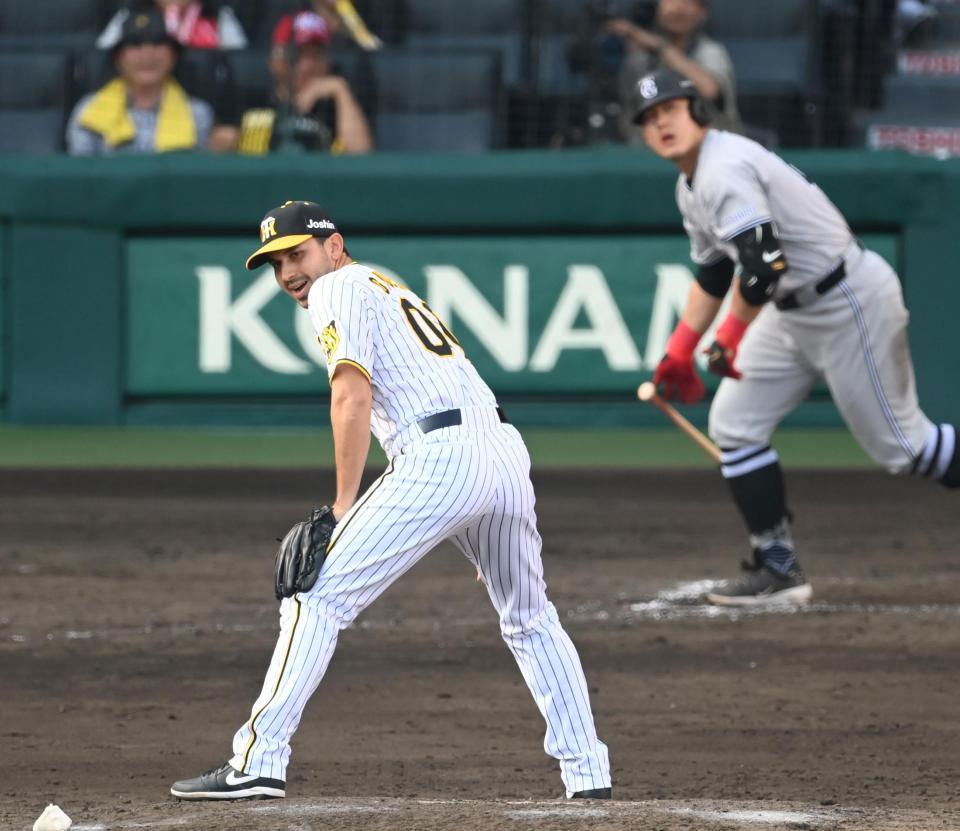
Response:
[[[449,329],[398,283],[351,263],[317,280],[308,304],[330,377],[350,363],[370,379],[370,428],[388,456],[424,416],[496,406]]]

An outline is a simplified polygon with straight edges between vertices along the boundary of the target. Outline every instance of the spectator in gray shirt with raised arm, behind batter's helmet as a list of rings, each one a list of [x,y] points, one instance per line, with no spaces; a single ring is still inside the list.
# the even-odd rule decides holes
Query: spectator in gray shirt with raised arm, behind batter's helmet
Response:
[[[714,126],[742,129],[730,53],[703,33],[709,14],[707,0],[658,0],[652,29],[622,18],[607,24],[607,29],[627,44],[620,99],[624,103],[621,131],[630,144],[643,144],[643,136],[632,125],[629,102],[634,100],[640,79],[657,69],[672,69],[692,81]]]

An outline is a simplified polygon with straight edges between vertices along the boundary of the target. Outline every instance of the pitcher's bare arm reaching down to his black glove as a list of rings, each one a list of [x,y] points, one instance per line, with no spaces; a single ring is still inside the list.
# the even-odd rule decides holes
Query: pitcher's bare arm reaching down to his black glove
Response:
[[[357,501],[360,479],[370,451],[372,389],[362,370],[342,363],[330,381],[330,424],[337,463],[337,501],[333,514],[340,519]]]

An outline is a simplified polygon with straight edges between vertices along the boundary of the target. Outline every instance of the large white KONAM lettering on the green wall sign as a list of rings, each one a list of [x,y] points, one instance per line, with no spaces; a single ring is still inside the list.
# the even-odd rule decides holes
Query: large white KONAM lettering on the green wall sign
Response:
[[[376,270],[401,282],[389,268],[377,265]],[[694,279],[685,265],[660,263],[655,266],[657,285],[641,358],[603,271],[596,265],[571,265],[543,334],[530,355],[527,266],[512,264],[504,268],[502,309],[493,305],[455,265],[431,264],[423,270],[427,302],[434,312],[442,320],[452,323],[456,319],[469,329],[493,360],[508,372],[524,369],[550,372],[567,350],[597,350],[616,372],[655,367],[663,356]],[[285,375],[307,374],[314,364],[325,366],[326,357],[306,310],[291,307],[301,354],[291,350],[261,316],[263,309],[281,295],[269,268],[263,269],[236,298],[232,297],[233,281],[227,267],[197,266],[195,273],[200,288],[198,363],[202,372],[230,372],[237,345],[264,368]],[[721,312],[718,320],[722,317]],[[582,321],[579,326],[578,321]],[[709,343],[712,332],[713,329],[704,335],[704,342]],[[703,364],[706,359],[698,354],[697,360]]]

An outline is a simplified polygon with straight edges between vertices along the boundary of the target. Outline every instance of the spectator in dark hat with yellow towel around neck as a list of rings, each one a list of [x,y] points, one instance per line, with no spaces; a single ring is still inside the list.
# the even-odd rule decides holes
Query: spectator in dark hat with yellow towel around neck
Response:
[[[74,107],[67,151],[97,156],[205,147],[213,110],[173,78],[179,50],[159,12],[131,15],[113,49],[117,77]]]

